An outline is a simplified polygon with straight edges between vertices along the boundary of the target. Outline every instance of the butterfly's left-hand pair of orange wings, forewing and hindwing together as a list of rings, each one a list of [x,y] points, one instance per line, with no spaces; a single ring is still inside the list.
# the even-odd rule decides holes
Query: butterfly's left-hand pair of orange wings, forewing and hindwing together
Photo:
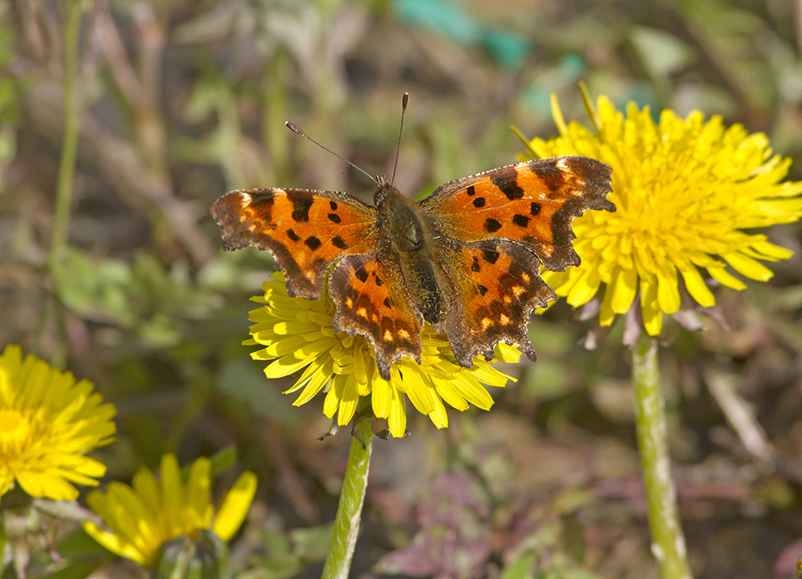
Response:
[[[211,214],[224,249],[273,254],[287,293],[320,298],[331,270],[334,330],[362,334],[382,378],[404,355],[421,361],[421,314],[410,304],[397,257],[381,251],[377,210],[342,192],[253,189],[226,193]]]

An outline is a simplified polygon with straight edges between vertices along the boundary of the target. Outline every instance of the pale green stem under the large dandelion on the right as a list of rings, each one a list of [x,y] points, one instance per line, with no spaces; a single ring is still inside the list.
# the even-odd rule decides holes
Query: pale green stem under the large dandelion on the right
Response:
[[[633,353],[636,428],[649,505],[651,551],[662,579],[692,579],[685,537],[676,510],[668,457],[665,403],[660,392],[658,344],[643,334]]]

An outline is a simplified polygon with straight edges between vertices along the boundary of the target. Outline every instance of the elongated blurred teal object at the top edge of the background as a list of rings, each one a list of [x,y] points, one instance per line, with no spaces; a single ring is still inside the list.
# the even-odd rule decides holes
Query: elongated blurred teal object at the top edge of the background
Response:
[[[532,50],[528,38],[482,26],[471,14],[448,0],[397,0],[398,20],[429,30],[460,45],[482,45],[504,69],[523,66]]]

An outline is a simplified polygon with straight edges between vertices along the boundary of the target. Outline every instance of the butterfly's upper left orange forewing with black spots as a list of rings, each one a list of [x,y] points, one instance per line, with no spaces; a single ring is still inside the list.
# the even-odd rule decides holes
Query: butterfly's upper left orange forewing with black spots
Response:
[[[211,214],[224,249],[270,251],[287,293],[301,298],[320,298],[331,265],[370,252],[376,241],[376,208],[342,192],[238,190],[218,199]]]

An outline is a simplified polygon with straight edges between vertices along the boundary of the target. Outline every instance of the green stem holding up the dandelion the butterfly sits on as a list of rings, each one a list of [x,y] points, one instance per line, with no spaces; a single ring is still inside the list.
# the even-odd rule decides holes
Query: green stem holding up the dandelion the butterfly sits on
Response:
[[[373,448],[371,420],[357,419],[356,434],[358,438],[353,436],[351,441],[348,467],[340,494],[340,506],[337,508],[337,518],[334,520],[334,536],[331,537],[331,546],[326,555],[321,579],[348,579],[351,559],[354,557]],[[364,441],[364,448],[359,439]]]

